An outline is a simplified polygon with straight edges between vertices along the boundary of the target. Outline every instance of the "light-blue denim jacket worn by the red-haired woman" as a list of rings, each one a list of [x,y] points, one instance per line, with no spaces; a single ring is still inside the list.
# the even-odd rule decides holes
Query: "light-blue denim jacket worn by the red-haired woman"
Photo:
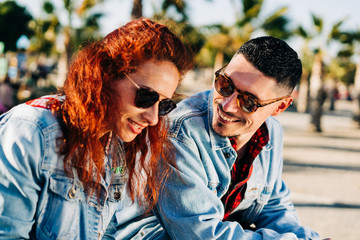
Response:
[[[61,134],[45,108],[21,104],[0,116],[0,239],[103,238],[126,177],[108,170],[100,197],[88,196],[64,173]]]

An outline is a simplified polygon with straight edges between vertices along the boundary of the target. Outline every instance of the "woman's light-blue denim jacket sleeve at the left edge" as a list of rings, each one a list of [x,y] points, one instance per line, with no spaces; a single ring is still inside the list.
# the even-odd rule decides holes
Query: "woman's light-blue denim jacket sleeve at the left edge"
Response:
[[[1,120],[1,119],[0,119]],[[26,119],[0,122],[0,239],[29,239],[41,190],[44,136]]]

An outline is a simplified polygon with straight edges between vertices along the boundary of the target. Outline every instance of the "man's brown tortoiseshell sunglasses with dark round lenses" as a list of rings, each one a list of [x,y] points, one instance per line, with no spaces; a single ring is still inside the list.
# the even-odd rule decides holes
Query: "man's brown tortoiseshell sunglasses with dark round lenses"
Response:
[[[227,64],[215,72],[215,89],[223,97],[229,97],[234,93],[234,91],[237,91],[238,92],[237,104],[246,113],[254,113],[259,107],[264,107],[266,105],[278,102],[290,96],[290,95],[286,95],[280,98],[270,99],[267,101],[259,101],[254,95],[236,89],[231,78],[225,76],[222,73],[226,68],[226,66]]]

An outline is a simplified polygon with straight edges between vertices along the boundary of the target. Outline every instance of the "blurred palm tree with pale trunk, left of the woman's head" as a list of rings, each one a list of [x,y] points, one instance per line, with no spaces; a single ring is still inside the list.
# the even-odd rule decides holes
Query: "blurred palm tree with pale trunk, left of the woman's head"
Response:
[[[90,9],[103,0],[82,0],[75,7],[74,0],[63,0],[64,9],[67,12],[67,24],[63,25],[56,15],[51,1],[45,1],[43,10],[47,14],[45,19],[37,19],[33,24],[35,38],[32,39],[32,50],[43,52],[47,55],[60,53],[58,61],[57,85],[62,85],[65,80],[67,66],[70,62],[74,49],[86,40],[93,40],[99,36],[98,20],[102,16],[99,13],[90,13]],[[79,29],[73,26],[73,17],[77,14],[83,25]],[[57,37],[63,36],[63,49],[56,48]]]

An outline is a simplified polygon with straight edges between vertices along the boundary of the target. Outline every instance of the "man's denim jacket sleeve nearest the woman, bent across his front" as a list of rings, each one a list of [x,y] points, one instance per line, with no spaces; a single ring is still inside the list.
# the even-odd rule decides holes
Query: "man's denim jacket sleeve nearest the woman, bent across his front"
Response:
[[[172,138],[176,168],[164,185],[158,211],[171,239],[298,239],[293,233],[271,229],[244,230],[238,222],[223,222],[224,208],[208,180],[196,141]]]

